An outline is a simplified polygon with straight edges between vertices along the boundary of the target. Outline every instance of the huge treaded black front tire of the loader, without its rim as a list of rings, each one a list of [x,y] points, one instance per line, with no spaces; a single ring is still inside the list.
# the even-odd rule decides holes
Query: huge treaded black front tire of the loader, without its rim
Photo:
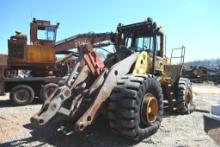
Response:
[[[141,106],[146,93],[158,101],[155,122],[146,124],[141,118]],[[160,127],[163,115],[163,93],[160,83],[152,75],[127,75],[113,89],[109,102],[109,122],[114,132],[134,141],[154,134]]]

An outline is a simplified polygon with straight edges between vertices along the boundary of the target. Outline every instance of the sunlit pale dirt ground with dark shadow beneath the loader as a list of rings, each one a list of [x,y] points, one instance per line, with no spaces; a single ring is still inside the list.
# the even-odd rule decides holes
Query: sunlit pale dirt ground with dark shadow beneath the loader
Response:
[[[194,103],[197,108],[209,109],[220,103],[220,87],[208,84],[193,84]],[[67,125],[68,118],[58,116],[46,126],[30,123],[41,103],[13,107],[8,95],[0,97],[0,146],[72,146],[72,147],[145,147],[145,146],[218,146],[203,131],[203,113],[190,115],[166,114],[158,132],[140,143],[130,142],[111,132],[106,118],[99,118],[84,132],[65,135],[58,128]]]

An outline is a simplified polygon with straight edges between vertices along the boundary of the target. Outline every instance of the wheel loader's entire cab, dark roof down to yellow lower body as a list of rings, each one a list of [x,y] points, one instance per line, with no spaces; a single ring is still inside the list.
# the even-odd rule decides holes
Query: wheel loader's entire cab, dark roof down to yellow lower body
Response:
[[[165,37],[162,27],[157,27],[156,22],[151,18],[146,21],[123,26],[119,24],[117,37],[118,50],[126,48],[132,52],[148,53],[149,71],[152,74],[161,75],[164,70],[165,57]]]

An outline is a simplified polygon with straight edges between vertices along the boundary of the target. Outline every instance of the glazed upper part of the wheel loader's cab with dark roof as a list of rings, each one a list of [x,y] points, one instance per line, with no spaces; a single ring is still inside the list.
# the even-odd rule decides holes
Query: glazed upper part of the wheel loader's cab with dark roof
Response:
[[[119,46],[124,46],[132,51],[146,51],[158,57],[164,57],[164,33],[162,27],[157,27],[151,18],[147,21],[126,25],[118,25]]]

